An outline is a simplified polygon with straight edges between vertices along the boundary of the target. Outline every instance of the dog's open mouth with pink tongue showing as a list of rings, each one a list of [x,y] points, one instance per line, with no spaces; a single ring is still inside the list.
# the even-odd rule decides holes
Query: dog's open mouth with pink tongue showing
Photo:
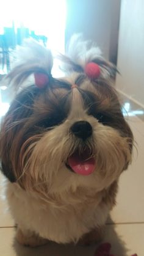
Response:
[[[78,152],[74,152],[68,158],[68,165],[76,174],[90,175],[95,169],[95,160],[90,158],[90,154],[86,150],[81,155]]]

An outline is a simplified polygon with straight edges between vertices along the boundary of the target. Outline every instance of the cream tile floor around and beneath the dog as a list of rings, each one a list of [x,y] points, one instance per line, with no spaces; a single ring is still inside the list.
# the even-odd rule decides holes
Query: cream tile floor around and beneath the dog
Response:
[[[117,207],[107,221],[104,241],[112,243],[115,256],[144,255],[144,122],[138,117],[129,117],[129,124],[137,142],[132,165],[120,178]],[[2,191],[2,187],[1,187]],[[6,203],[0,202],[0,256],[94,256],[95,246],[74,247],[54,243],[30,249],[15,241],[13,220]]]

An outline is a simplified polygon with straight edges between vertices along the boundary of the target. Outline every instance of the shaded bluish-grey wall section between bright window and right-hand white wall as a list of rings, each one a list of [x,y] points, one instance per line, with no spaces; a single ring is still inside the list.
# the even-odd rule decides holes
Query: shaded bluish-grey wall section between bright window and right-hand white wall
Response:
[[[82,32],[103,51],[106,59],[117,60],[120,0],[67,0],[65,38]]]

